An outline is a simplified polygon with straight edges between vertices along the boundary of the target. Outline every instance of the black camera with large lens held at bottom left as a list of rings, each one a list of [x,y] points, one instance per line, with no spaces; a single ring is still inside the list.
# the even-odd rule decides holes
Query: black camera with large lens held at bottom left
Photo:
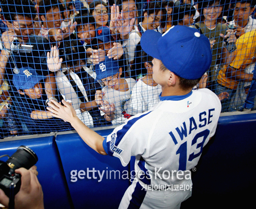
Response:
[[[10,197],[10,195],[16,195],[19,192],[21,175],[15,173],[14,170],[20,167],[29,169],[37,161],[36,153],[24,145],[19,146],[6,162],[0,161],[0,189],[4,191],[5,195]]]

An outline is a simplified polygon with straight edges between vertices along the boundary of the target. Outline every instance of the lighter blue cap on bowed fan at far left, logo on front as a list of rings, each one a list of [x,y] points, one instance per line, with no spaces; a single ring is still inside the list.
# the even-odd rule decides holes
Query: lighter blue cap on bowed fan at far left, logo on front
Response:
[[[18,74],[14,74],[13,83],[17,90],[30,89],[45,78],[46,76],[39,75],[36,70],[30,67],[23,67],[19,69]]]

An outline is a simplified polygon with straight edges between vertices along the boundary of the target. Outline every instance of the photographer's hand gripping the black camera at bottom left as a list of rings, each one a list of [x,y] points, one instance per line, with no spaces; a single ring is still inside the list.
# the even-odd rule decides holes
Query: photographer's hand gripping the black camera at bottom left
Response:
[[[29,170],[24,167],[15,170],[21,175],[20,190],[15,195],[15,209],[44,209],[43,191],[37,179],[37,170],[33,166]],[[9,198],[0,189],[0,203],[8,207]]]

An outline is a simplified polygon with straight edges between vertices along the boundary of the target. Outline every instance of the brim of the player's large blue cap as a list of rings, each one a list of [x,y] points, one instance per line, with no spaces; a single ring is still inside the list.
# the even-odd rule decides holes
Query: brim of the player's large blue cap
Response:
[[[157,42],[162,37],[162,34],[156,32],[155,30],[146,30],[142,34],[141,46],[142,50],[147,53],[149,56],[152,56],[156,59],[160,59]]]

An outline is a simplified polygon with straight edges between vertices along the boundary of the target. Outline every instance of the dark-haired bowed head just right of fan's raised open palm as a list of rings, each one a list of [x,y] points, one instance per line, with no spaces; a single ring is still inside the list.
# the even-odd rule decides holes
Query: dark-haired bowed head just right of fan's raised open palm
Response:
[[[71,34],[70,40],[66,39],[61,42],[58,50],[59,58],[62,58],[62,63],[66,64],[67,66],[75,66],[79,64],[79,60],[83,60],[86,63],[85,48],[73,34]]]

